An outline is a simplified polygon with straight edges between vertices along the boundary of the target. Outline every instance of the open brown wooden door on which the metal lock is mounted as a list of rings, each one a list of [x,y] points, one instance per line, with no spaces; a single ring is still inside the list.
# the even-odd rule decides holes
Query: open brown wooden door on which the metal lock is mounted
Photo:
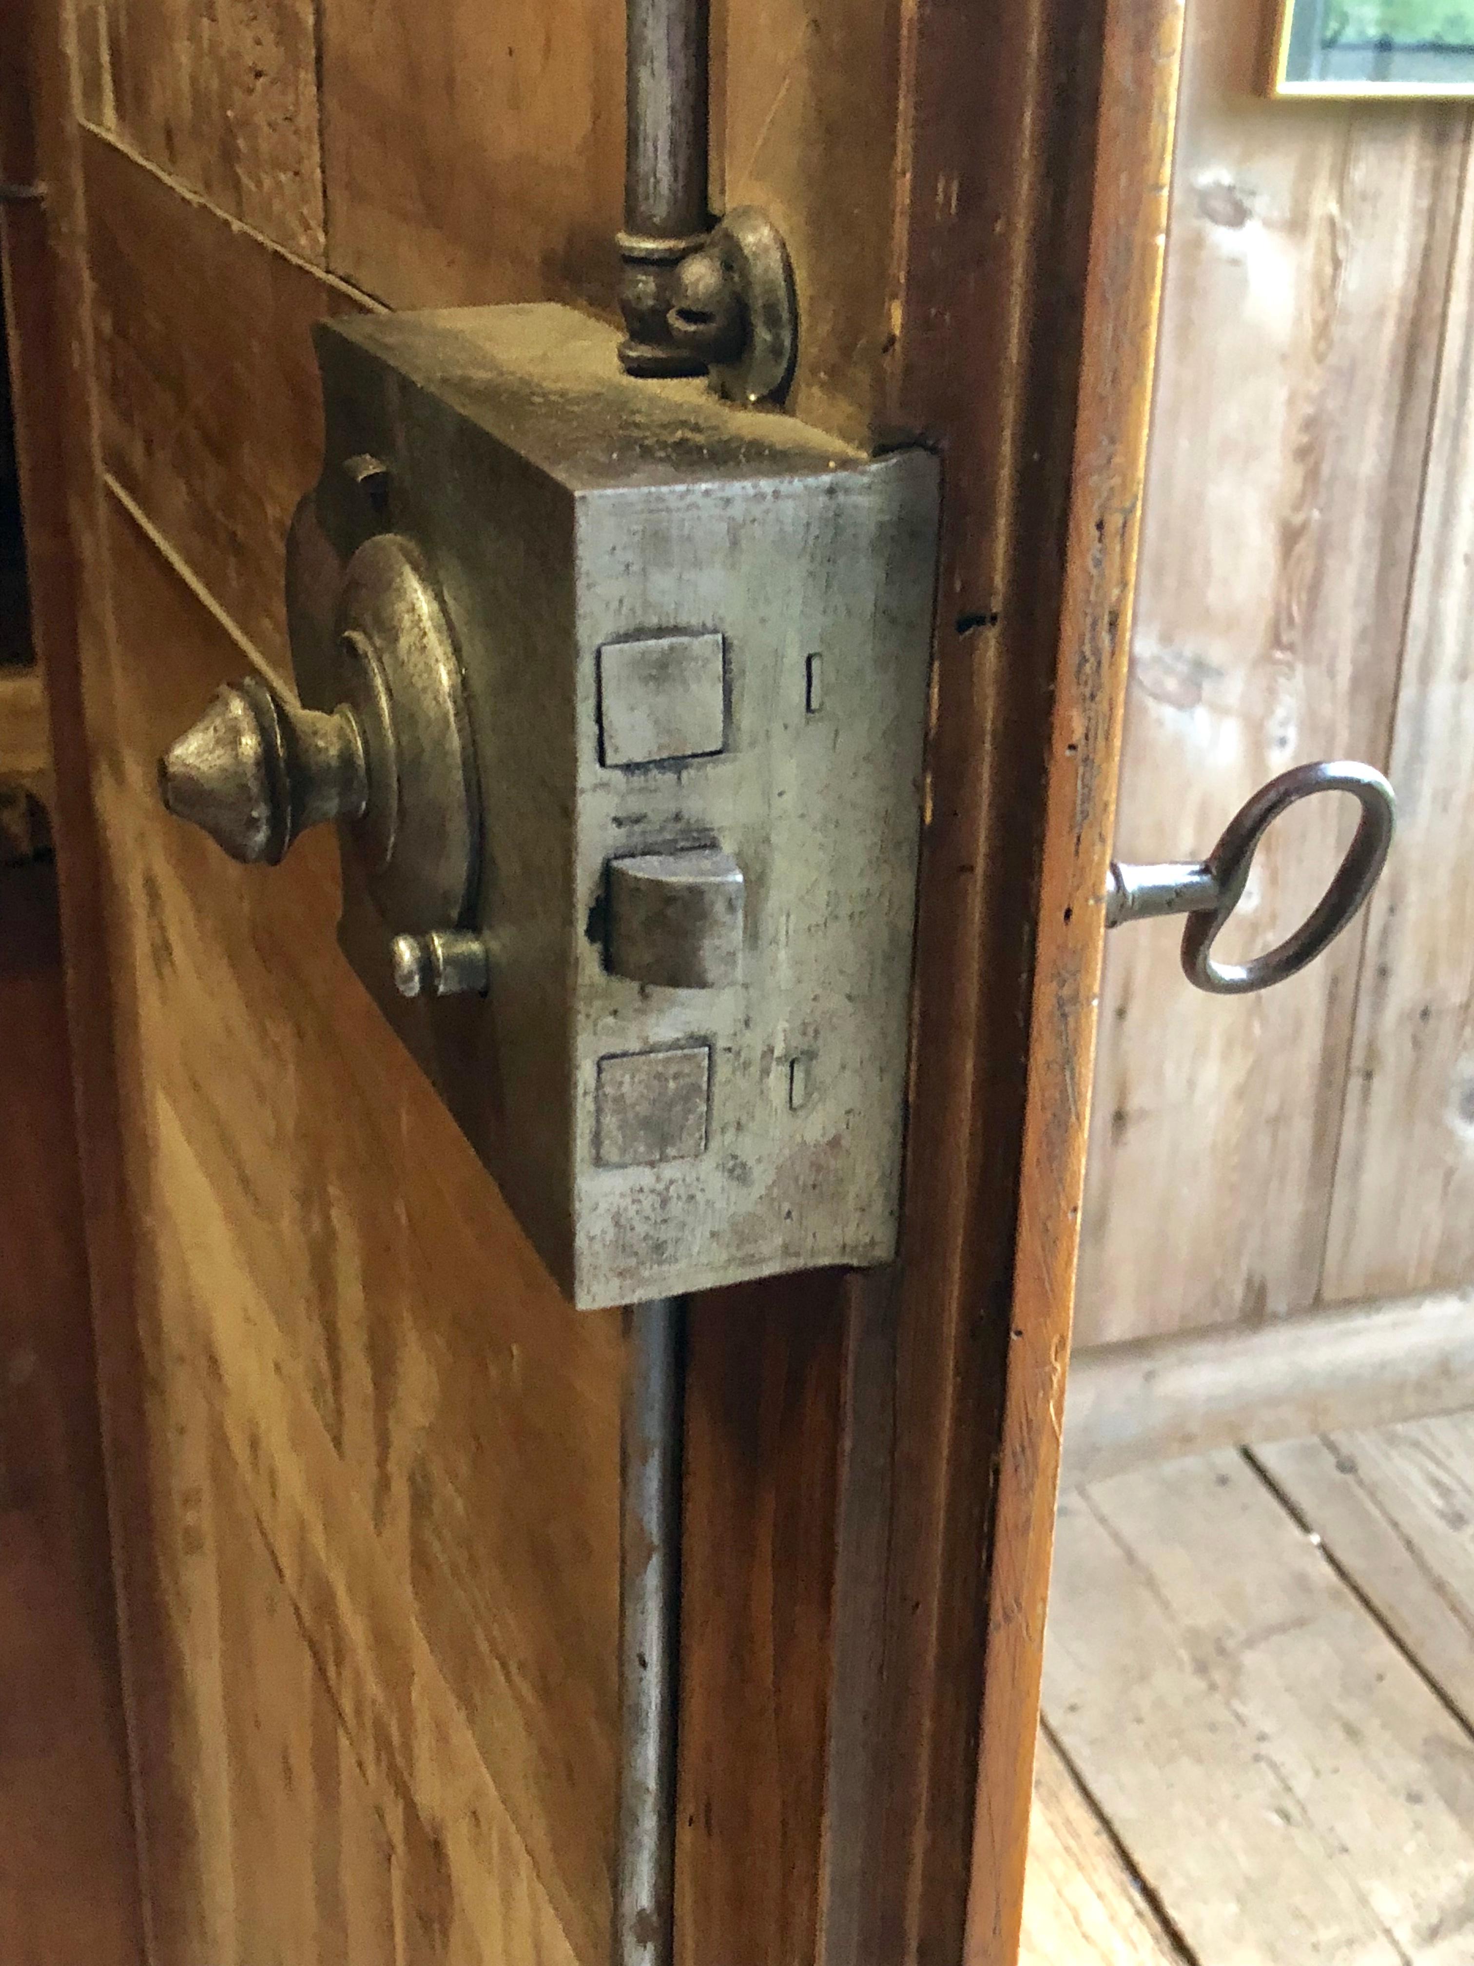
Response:
[[[303,682],[314,322],[617,318],[625,12],[12,14],[151,1960],[603,1966],[631,1323],[572,1309],[362,985],[332,830],[238,865],[157,759],[222,682]],[[900,1243],[684,1305],[672,1883],[625,1960],[1016,1952],[1177,39],[1173,0],[713,10],[711,204],[792,261],[772,427],[939,458],[941,529]]]

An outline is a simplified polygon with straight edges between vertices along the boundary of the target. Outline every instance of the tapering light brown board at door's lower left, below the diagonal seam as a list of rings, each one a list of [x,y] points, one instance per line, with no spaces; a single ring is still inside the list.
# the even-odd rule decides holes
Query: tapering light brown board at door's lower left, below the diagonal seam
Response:
[[[189,1370],[189,1331],[145,1343],[165,1585],[159,1732],[143,1748],[155,1958],[395,1966],[405,1893],[377,1799],[303,1644],[212,1388]]]

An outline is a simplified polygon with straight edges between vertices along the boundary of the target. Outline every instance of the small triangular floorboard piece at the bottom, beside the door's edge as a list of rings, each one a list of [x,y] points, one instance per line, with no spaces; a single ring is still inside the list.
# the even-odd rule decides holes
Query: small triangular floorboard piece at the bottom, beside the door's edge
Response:
[[[1018,1966],[1183,1966],[1069,1764],[1040,1734]]]

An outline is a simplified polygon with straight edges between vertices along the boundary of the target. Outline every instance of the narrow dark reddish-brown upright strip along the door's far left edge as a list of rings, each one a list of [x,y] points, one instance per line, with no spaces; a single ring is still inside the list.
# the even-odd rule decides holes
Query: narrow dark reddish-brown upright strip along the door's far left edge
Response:
[[[122,1158],[116,942],[106,841],[94,802],[94,769],[102,763],[94,763],[88,745],[83,682],[83,647],[106,635],[108,596],[77,138],[77,22],[69,4],[45,0],[22,0],[14,12],[8,22],[12,87],[0,92],[4,175],[33,183],[41,195],[0,212],[0,258],[12,328],[31,639],[55,759],[49,818],[57,841],[71,1091],[122,1655],[126,1742],[118,1742],[118,1760],[126,1760],[132,1785],[132,1822],[118,1830],[122,1876],[112,1909],[120,1954],[142,1958],[151,1956],[153,1938],[143,1885],[140,1705],[153,1681],[157,1628],[142,1565],[130,1561],[149,1535],[151,1514],[138,1453],[142,1431],[136,1431],[143,1372],[132,1311],[134,1231]],[[83,759],[92,769],[79,769]]]

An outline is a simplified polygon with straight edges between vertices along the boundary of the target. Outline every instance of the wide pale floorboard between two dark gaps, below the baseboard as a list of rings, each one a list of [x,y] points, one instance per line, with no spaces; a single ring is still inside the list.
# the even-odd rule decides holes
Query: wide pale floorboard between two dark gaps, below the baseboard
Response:
[[[1474,1956],[1474,1742],[1244,1457],[1063,1502],[1046,1714],[1199,1966]]]

